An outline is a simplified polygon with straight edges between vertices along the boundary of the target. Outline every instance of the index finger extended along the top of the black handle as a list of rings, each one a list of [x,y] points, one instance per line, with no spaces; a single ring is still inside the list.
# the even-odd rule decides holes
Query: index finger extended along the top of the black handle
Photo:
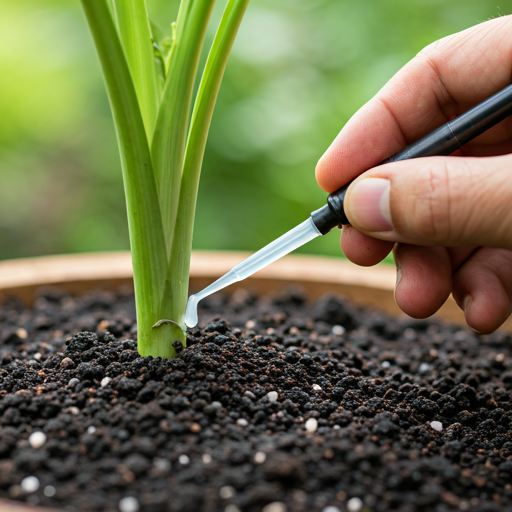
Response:
[[[317,164],[327,192],[510,84],[512,16],[493,19],[427,46],[348,121]],[[477,139],[512,137],[507,118]]]

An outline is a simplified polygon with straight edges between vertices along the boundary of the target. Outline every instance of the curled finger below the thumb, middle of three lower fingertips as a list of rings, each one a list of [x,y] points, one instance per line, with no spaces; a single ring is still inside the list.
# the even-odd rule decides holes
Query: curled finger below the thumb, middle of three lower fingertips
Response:
[[[397,244],[395,300],[413,318],[433,315],[452,291],[452,266],[444,247]]]

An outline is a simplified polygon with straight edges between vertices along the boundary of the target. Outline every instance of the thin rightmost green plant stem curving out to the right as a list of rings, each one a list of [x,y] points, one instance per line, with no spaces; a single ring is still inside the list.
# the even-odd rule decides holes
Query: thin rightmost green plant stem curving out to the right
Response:
[[[197,191],[206,140],[228,57],[248,3],[249,0],[228,1],[197,93],[187,140],[178,216],[169,265],[169,269],[179,276],[188,276],[190,271]],[[170,290],[172,296],[186,305],[188,283],[184,280],[169,280],[169,282],[172,283]],[[182,321],[181,318],[180,321]]]

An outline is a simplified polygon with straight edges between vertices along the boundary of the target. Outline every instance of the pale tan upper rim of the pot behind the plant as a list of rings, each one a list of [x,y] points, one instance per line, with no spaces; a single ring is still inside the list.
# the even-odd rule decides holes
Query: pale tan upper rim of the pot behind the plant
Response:
[[[243,251],[193,251],[191,278],[217,278],[250,256]],[[0,261],[0,291],[25,286],[46,286],[76,281],[131,280],[130,251],[91,252],[36,256]],[[288,255],[260,270],[248,280],[276,279],[357,284],[393,289],[395,271],[391,265],[359,267],[332,256]]]

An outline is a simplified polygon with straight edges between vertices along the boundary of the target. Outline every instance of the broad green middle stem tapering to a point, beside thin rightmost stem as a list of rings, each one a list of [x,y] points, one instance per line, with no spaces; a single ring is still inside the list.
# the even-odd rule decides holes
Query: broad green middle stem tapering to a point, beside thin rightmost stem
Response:
[[[171,65],[153,134],[151,154],[168,258],[178,211],[194,81],[214,3],[215,0],[183,0],[180,5]]]

